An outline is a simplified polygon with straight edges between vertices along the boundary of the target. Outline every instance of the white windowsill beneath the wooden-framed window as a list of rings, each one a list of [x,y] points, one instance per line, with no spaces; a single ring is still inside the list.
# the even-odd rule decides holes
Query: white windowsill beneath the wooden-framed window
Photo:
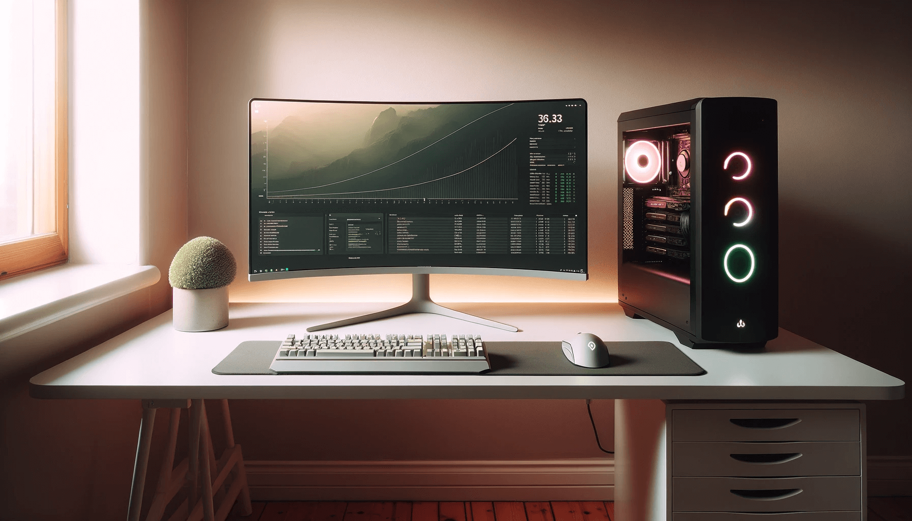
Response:
[[[155,266],[73,265],[0,282],[0,343],[159,281]]]

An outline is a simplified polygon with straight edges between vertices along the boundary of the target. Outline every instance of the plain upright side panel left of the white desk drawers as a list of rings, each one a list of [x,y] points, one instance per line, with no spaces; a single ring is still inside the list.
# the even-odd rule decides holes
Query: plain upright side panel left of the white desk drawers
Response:
[[[666,521],[665,402],[615,400],[617,521]]]

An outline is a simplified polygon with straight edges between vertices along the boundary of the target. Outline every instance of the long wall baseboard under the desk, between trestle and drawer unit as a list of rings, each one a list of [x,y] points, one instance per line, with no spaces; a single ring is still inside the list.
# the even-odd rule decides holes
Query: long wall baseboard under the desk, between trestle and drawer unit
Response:
[[[245,462],[258,501],[609,501],[613,459]]]

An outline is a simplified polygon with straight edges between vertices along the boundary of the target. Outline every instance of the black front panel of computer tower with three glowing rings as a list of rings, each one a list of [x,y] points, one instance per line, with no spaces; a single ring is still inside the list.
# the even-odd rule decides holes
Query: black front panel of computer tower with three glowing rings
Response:
[[[693,173],[695,332],[710,342],[778,335],[776,101],[702,99]]]

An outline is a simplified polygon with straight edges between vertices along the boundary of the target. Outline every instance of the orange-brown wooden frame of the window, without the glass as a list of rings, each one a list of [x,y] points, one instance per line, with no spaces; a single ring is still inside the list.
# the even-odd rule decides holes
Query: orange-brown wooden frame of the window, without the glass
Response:
[[[23,275],[50,266],[67,262],[69,242],[67,231],[67,173],[68,173],[68,89],[67,89],[67,0],[55,1],[55,78],[54,78],[54,128],[45,130],[45,142],[53,142],[53,158],[46,158],[53,164],[47,169],[45,179],[47,192],[36,197],[44,197],[47,203],[36,205],[36,215],[43,213],[42,218],[55,223],[55,231],[38,234],[24,239],[0,245],[0,280],[11,276]],[[51,179],[53,177],[53,179]],[[52,188],[50,186],[53,185]],[[38,210],[38,206],[41,210]]]

